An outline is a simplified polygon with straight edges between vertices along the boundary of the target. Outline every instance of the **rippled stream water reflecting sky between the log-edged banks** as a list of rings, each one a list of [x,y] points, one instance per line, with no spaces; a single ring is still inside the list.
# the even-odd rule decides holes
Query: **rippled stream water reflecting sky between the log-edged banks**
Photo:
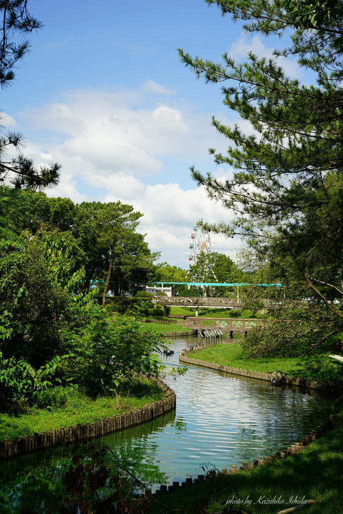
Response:
[[[174,355],[163,358],[167,367],[178,365],[178,353],[195,343],[193,337],[174,340]],[[331,412],[331,401],[319,393],[201,366],[165,381],[176,392],[174,411],[102,438],[153,488],[203,474],[202,464],[229,468],[275,453]],[[56,448],[0,462],[0,513],[60,504],[72,453],[71,447]]]

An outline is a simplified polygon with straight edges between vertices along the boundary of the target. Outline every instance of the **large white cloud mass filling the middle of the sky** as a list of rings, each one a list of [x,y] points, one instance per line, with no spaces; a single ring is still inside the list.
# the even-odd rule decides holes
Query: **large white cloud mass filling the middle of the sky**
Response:
[[[166,174],[165,162],[178,159],[186,171],[194,158],[209,160],[208,146],[225,151],[226,141],[211,127],[209,114],[194,113],[183,100],[156,98],[171,94],[153,81],[133,91],[68,91],[59,102],[21,115],[38,131],[26,154],[37,164],[62,163],[61,183],[49,196],[133,205],[144,214],[139,231],[147,233],[150,248],[161,251],[161,260],[187,268],[194,219],[214,222],[229,213],[203,188],[180,187],[182,174]],[[149,183],[153,176],[155,183]],[[237,244],[216,240],[213,250],[225,253]]]

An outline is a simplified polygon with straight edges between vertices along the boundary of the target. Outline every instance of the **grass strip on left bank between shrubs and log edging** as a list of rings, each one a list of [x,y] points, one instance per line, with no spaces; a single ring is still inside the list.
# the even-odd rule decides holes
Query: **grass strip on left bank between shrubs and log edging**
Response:
[[[94,423],[100,418],[137,409],[164,398],[164,393],[152,382],[146,381],[134,389],[117,395],[88,398],[78,389],[68,388],[65,405],[46,408],[33,407],[31,411],[16,417],[0,414],[0,440],[41,433],[77,423]]]

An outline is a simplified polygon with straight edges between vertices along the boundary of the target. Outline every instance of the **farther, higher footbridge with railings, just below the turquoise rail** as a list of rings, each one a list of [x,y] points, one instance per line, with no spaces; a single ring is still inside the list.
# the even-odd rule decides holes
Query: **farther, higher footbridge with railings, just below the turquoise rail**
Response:
[[[275,301],[270,299],[261,300],[266,309],[281,309],[281,308],[292,308],[292,309],[308,309],[308,300],[282,300]],[[199,307],[207,307],[212,309],[232,309],[238,310],[244,308],[242,300],[237,298],[226,298],[226,297],[180,297],[180,296],[156,296],[156,303],[164,307],[172,306],[183,306],[183,307],[195,307],[195,316],[198,315]]]

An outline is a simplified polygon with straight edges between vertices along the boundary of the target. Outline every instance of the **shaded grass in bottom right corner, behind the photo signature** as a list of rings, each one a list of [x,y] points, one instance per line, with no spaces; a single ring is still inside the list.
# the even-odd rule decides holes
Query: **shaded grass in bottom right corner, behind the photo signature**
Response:
[[[266,466],[258,466],[248,472],[222,475],[201,485],[193,485],[187,491],[161,495],[158,500],[173,509],[183,509],[186,514],[198,512],[201,501],[210,504],[208,512],[222,511],[225,503],[238,490],[243,500],[242,510],[248,514],[275,513],[290,508],[296,497],[315,500],[304,507],[304,513],[341,514],[343,496],[343,410],[338,416],[338,425],[328,434],[314,441],[300,453],[291,455]],[[238,463],[237,463],[238,464]],[[226,490],[224,490],[226,489]],[[217,499],[215,498],[217,497]],[[264,497],[260,499],[261,497]],[[281,497],[283,504],[267,504],[262,500]],[[236,497],[237,498],[237,497]],[[248,501],[246,501],[248,499]],[[260,500],[260,501],[259,501]],[[250,503],[251,501],[251,503]],[[236,507],[239,505],[237,504]],[[166,508],[152,504],[151,514],[161,514]]]

